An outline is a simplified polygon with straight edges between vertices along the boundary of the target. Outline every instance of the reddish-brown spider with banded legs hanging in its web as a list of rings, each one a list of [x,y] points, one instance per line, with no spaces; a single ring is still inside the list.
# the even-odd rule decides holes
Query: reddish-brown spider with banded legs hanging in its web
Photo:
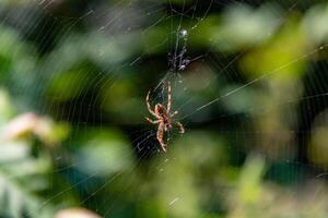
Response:
[[[168,96],[167,96],[167,108],[163,106],[162,104],[156,104],[154,110],[152,110],[151,105],[149,102],[149,96],[151,92],[148,92],[148,95],[145,97],[145,104],[149,112],[154,116],[157,120],[151,120],[150,118],[145,117],[145,120],[149,121],[152,124],[159,124],[157,129],[157,141],[162,147],[162,150],[166,153],[166,143],[164,142],[164,133],[172,130],[172,124],[175,124],[179,129],[179,133],[184,134],[185,129],[184,125],[180,122],[174,122],[173,123],[173,117],[178,113],[178,111],[174,111],[173,113],[169,113],[171,111],[171,85],[168,83]]]

